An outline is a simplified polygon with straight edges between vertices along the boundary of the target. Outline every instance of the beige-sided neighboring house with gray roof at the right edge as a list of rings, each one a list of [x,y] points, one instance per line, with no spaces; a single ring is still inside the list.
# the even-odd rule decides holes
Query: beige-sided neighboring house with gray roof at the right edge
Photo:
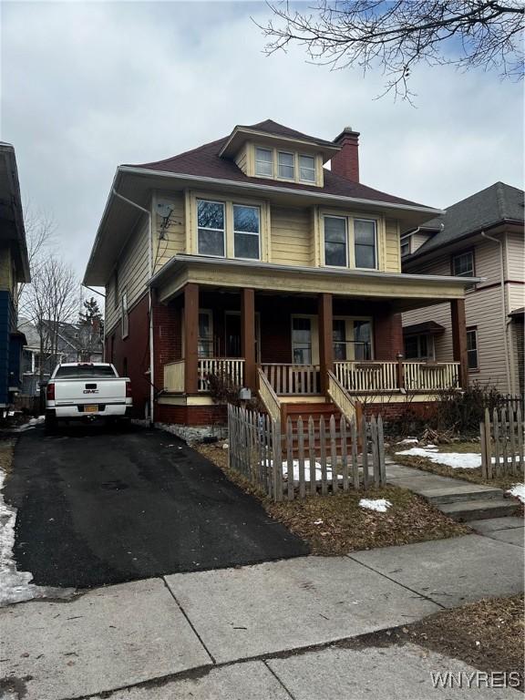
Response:
[[[496,182],[401,237],[404,273],[482,277],[465,298],[468,373],[523,393],[523,190]],[[403,314],[407,359],[452,359],[448,304]]]

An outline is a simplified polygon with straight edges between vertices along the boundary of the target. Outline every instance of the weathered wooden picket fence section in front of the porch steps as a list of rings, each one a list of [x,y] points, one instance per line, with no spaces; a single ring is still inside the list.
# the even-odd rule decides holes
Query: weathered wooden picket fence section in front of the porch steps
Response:
[[[280,421],[228,406],[229,466],[274,500],[386,483],[383,420]]]

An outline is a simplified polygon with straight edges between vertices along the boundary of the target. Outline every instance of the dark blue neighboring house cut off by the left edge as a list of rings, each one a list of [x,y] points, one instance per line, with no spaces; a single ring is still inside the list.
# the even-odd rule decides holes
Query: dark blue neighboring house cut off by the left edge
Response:
[[[15,149],[0,141],[0,417],[21,386],[26,340],[16,330],[21,282],[30,282],[30,276]]]

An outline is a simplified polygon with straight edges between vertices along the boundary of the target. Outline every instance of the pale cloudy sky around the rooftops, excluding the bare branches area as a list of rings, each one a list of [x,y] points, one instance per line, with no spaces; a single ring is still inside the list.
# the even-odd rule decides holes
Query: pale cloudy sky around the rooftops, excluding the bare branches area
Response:
[[[255,3],[3,2],[1,139],[25,200],[53,216],[84,272],[119,163],[159,160],[273,118],[333,139],[361,132],[362,181],[446,207],[522,180],[522,85],[421,68],[417,108],[376,100],[382,77],[330,72],[301,50],[265,57]]]

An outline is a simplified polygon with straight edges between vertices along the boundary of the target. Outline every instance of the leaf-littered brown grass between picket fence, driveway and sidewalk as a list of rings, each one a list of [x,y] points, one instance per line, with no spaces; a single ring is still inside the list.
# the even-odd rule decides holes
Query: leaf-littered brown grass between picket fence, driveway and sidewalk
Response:
[[[227,450],[211,445],[201,445],[197,449],[234,483],[260,499],[274,520],[308,542],[313,554],[335,556],[349,551],[457,537],[471,531],[466,525],[448,519],[424,499],[394,486],[274,503],[254,489],[251,482],[228,468]],[[385,513],[366,510],[359,506],[362,498],[387,499],[392,506]]]

